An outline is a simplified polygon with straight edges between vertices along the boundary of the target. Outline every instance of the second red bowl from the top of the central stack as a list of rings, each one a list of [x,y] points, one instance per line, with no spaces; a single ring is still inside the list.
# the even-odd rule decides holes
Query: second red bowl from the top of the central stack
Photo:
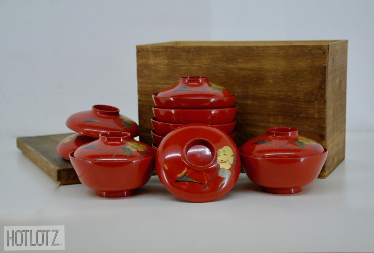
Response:
[[[153,107],[154,118],[160,122],[174,124],[204,123],[222,125],[235,119],[236,107],[221,109],[163,109]]]

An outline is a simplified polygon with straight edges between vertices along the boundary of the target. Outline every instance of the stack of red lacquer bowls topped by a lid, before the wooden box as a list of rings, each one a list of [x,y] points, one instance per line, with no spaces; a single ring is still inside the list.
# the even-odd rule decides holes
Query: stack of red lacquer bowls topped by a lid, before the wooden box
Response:
[[[152,94],[153,147],[173,129],[189,123],[213,125],[235,137],[236,96],[209,82],[206,76],[184,76],[180,82]]]

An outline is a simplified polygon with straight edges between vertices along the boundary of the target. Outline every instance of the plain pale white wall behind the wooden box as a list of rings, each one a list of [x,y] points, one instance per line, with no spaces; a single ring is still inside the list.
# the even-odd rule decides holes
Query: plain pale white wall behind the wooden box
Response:
[[[136,45],[348,39],[347,131],[374,129],[374,1],[0,1],[1,137],[70,132],[109,104],[138,122]]]

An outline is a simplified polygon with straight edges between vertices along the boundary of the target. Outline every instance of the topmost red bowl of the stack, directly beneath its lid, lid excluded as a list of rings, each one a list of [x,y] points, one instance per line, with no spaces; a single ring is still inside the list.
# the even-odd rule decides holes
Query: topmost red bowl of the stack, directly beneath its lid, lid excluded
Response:
[[[159,97],[152,94],[153,102],[157,108],[165,109],[218,109],[233,107],[236,95],[220,98],[194,98],[194,97]]]

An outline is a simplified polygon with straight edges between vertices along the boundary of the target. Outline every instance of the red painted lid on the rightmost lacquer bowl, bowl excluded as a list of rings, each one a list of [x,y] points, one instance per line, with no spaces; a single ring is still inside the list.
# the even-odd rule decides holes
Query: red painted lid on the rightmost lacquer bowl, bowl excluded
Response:
[[[245,155],[264,158],[294,158],[324,152],[321,144],[289,127],[268,128],[266,134],[246,141],[239,150]]]

